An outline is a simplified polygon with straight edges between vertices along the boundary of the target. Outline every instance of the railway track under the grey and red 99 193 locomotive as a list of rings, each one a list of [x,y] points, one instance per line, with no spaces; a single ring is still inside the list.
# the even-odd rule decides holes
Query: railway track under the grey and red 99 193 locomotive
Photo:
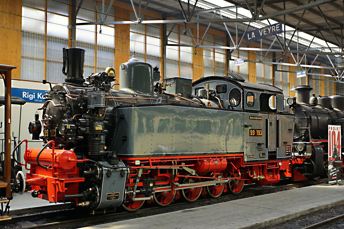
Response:
[[[304,186],[310,186],[316,183],[325,182],[327,179],[322,179],[318,181],[306,181],[300,182],[296,184],[286,184],[286,185],[279,185],[279,186],[262,186],[257,187],[256,185],[245,185],[245,190],[237,195],[234,194],[227,194],[222,195],[217,198],[201,198],[195,202],[176,202],[170,204],[165,207],[157,206],[157,207],[149,207],[141,208],[134,212],[108,212],[108,213],[97,213],[92,215],[89,211],[80,211],[80,209],[65,209],[65,210],[56,210],[56,211],[45,211],[42,213],[34,213],[29,215],[23,216],[12,216],[10,221],[0,221],[1,227],[4,228],[14,228],[14,225],[20,224],[21,229],[34,229],[34,228],[49,228],[49,229],[57,229],[57,228],[78,228],[76,225],[80,225],[80,227],[85,227],[88,225],[95,225],[100,223],[105,223],[104,220],[106,218],[107,222],[110,221],[120,221],[128,218],[138,218],[143,216],[149,215],[156,215],[161,213],[167,213],[176,210],[182,210],[186,208],[193,208],[202,206],[204,204],[209,203],[218,203],[218,202],[225,202],[231,201],[233,199],[245,198],[254,195],[262,195],[271,192],[277,192],[289,188],[298,188]],[[36,209],[39,211],[39,208]],[[85,217],[86,216],[86,217]],[[51,218],[54,218],[51,220]],[[46,222],[50,221],[50,222]],[[53,221],[53,222],[52,222]],[[26,223],[25,223],[26,222]],[[8,226],[8,227],[6,227]]]

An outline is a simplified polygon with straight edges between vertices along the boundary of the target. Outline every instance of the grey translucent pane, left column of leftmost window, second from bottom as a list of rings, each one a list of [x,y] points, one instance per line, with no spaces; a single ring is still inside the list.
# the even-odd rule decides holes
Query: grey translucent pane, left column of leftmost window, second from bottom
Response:
[[[22,56],[44,58],[44,42],[42,35],[22,32]]]

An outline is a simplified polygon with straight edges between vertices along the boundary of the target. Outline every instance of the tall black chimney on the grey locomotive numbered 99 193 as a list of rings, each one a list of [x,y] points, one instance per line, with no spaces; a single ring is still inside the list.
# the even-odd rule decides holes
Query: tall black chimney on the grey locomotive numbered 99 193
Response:
[[[80,83],[84,79],[85,50],[82,48],[63,48],[62,72],[67,76],[65,82]]]

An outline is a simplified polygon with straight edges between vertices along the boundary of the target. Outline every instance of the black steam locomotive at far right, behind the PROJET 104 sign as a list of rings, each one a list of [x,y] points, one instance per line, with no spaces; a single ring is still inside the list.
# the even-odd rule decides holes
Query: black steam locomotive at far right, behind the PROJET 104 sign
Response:
[[[291,161],[293,180],[316,179],[323,172],[327,176],[329,160],[327,126],[344,127],[344,97],[333,95],[316,98],[313,94],[310,98],[312,88],[308,85],[298,87],[296,90],[297,96],[288,98],[287,106],[284,108],[285,112],[295,115],[295,153]],[[340,151],[341,142],[334,142],[334,145]],[[343,174],[343,169],[341,173]]]

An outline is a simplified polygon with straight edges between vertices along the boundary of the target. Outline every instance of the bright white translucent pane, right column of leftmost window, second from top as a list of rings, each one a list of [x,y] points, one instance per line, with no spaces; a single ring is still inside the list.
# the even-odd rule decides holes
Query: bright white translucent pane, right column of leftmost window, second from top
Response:
[[[68,17],[47,13],[47,35],[68,38]]]

